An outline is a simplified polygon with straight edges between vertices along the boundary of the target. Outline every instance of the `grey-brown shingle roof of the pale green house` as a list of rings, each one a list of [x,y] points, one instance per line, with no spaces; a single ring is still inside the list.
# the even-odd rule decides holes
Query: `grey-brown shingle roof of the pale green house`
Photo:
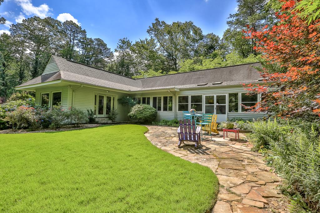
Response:
[[[54,55],[52,55],[52,58],[59,68],[58,72],[38,76],[18,87],[62,79],[124,91],[144,91],[238,85],[242,83],[255,83],[261,78],[259,72],[254,68],[260,66],[260,63],[133,79]],[[222,83],[217,85],[212,84],[215,82]],[[198,84],[205,85],[198,86]]]

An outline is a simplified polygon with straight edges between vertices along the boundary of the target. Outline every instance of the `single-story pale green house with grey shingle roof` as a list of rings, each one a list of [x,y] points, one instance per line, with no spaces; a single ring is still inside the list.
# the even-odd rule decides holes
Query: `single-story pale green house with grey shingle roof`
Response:
[[[116,121],[128,120],[129,106],[118,103],[123,96],[155,107],[157,120],[181,119],[182,111],[192,107],[199,113],[217,114],[218,122],[236,117],[249,120],[264,116],[246,112],[241,105],[253,106],[260,100],[260,95],[246,95],[242,86],[261,81],[257,66],[260,63],[133,79],[52,55],[41,76],[16,89],[33,91],[40,105],[92,109],[102,120],[111,109],[119,112]]]

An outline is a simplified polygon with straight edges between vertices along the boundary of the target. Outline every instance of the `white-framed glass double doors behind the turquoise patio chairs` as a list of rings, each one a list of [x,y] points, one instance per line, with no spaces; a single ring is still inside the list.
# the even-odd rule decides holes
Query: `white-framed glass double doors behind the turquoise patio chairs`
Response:
[[[217,115],[217,122],[227,120],[227,94],[205,95],[204,112]]]

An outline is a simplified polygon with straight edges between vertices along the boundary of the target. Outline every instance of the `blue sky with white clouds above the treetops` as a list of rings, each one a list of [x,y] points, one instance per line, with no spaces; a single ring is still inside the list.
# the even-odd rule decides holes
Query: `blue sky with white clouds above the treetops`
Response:
[[[204,34],[222,36],[236,6],[236,0],[4,0],[0,14],[8,21],[0,26],[0,33],[23,18],[51,16],[80,23],[89,37],[101,38],[114,51],[120,38],[147,37],[155,18],[167,23],[191,20]]]

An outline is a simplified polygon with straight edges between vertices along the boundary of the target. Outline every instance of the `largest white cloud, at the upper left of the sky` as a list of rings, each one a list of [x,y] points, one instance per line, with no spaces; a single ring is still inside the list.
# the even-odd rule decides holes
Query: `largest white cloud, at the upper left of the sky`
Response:
[[[36,15],[40,18],[45,18],[49,15],[49,6],[47,4],[41,4],[36,7],[31,3],[31,0],[15,0],[15,2],[22,8],[22,11],[26,15]]]

